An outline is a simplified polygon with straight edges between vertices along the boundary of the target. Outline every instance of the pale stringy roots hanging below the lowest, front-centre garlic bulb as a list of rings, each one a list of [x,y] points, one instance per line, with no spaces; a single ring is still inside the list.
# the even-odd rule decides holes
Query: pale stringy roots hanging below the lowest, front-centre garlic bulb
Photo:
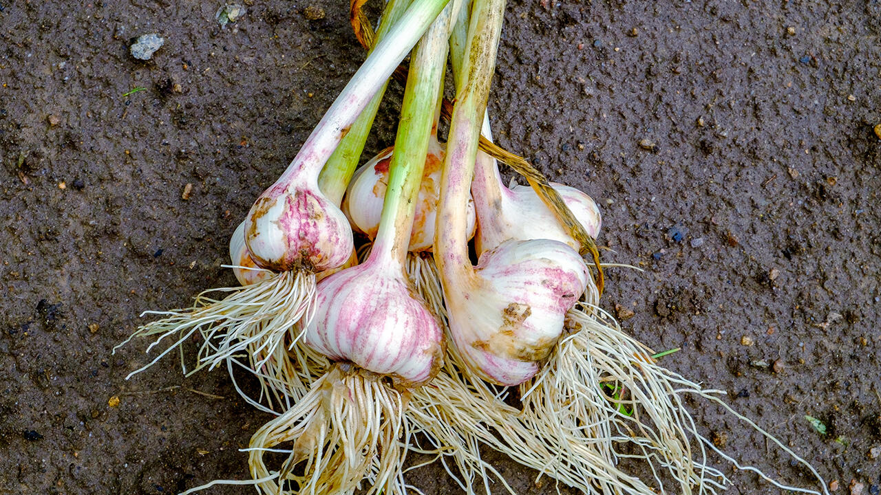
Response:
[[[337,364],[300,402],[263,425],[250,442],[251,475],[266,495],[404,493],[403,463],[411,429],[405,394],[353,366]],[[292,442],[278,469],[263,455]]]

